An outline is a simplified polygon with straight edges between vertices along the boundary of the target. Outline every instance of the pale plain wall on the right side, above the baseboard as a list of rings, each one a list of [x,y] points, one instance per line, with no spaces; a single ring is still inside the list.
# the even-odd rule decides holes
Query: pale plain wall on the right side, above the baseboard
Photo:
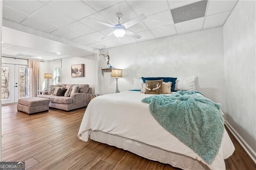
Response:
[[[226,121],[254,150],[254,154],[256,152],[255,10],[255,1],[239,1],[223,27]],[[254,159],[256,160],[256,157]]]

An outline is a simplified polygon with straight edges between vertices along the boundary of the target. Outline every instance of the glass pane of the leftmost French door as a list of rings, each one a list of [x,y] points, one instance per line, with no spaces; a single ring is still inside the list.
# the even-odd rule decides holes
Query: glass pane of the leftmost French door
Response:
[[[10,67],[2,67],[2,100],[10,99]]]

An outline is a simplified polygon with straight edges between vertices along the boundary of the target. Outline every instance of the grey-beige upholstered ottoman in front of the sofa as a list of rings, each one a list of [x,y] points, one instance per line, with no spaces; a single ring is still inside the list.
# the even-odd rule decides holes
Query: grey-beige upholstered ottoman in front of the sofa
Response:
[[[28,97],[18,100],[17,110],[33,115],[36,113],[46,112],[49,110],[49,99],[40,97]]]

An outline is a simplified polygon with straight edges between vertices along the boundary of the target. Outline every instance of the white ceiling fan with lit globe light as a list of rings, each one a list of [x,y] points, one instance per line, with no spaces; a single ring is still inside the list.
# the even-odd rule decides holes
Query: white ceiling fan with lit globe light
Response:
[[[104,26],[108,26],[110,28],[113,28],[113,31],[110,32],[108,35],[104,36],[101,39],[107,38],[112,36],[113,34],[117,37],[117,38],[121,38],[123,37],[125,34],[128,36],[132,36],[134,38],[141,38],[141,36],[139,36],[138,34],[135,34],[134,32],[131,32],[129,30],[127,30],[127,28],[130,28],[131,26],[134,26],[135,24],[138,24],[139,22],[141,22],[142,20],[146,19],[147,17],[144,14],[141,14],[140,16],[137,16],[136,18],[133,18],[132,20],[125,22],[123,24],[120,23],[120,20],[122,19],[122,14],[118,13],[116,14],[116,18],[118,19],[118,24],[114,24],[113,22],[111,22],[110,20],[108,20],[111,24],[108,24],[106,22],[102,22],[99,20],[96,20],[94,18],[90,18],[92,20],[95,20],[96,22],[104,25]]]

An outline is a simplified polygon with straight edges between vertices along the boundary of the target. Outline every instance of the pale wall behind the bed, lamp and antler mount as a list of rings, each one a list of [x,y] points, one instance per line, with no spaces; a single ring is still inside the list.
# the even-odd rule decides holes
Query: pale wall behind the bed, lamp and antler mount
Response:
[[[225,111],[221,27],[113,47],[108,52],[112,67],[123,69],[123,77],[118,79],[120,91],[132,89],[133,78],[196,75],[197,90],[221,103]],[[107,67],[104,57],[100,66]],[[115,93],[116,80],[110,76],[99,77],[102,94]]]

